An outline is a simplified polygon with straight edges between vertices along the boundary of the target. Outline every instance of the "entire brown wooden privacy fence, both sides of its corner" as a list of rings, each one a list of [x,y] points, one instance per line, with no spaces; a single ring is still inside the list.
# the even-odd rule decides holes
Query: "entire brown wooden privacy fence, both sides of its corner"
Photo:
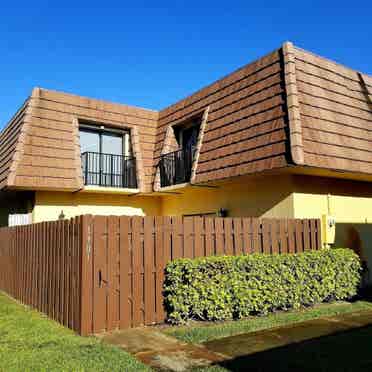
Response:
[[[0,289],[87,335],[161,323],[180,257],[320,249],[320,221],[81,216],[0,229]]]

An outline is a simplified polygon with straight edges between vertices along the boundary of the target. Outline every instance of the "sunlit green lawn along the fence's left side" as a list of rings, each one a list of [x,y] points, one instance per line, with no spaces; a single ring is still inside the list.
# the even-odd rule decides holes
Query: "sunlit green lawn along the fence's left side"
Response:
[[[0,371],[150,371],[124,351],[79,337],[0,293]]]

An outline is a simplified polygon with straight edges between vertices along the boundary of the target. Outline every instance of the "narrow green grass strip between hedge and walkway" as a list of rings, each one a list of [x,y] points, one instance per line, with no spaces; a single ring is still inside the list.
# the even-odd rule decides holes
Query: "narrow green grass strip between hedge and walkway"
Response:
[[[187,326],[174,326],[163,329],[163,332],[180,340],[191,343],[202,343],[209,340],[248,333],[267,328],[283,326],[295,322],[315,319],[355,311],[372,310],[372,303],[357,301],[354,303],[321,304],[312,308],[278,312],[262,317],[250,317],[243,320],[227,322],[190,322]]]

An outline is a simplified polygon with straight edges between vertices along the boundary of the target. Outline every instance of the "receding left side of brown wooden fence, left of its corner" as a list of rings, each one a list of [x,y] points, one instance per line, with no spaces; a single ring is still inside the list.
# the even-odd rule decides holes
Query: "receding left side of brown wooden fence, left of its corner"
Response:
[[[81,221],[0,228],[0,290],[80,331]]]

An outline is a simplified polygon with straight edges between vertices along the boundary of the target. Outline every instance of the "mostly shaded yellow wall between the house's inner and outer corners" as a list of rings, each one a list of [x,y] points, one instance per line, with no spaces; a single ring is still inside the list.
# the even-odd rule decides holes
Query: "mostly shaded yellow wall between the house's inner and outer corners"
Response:
[[[217,188],[189,187],[180,195],[163,197],[162,214],[179,216],[216,213],[230,217],[293,217],[291,177],[245,177],[220,183]],[[177,191],[177,190],[176,190]]]

